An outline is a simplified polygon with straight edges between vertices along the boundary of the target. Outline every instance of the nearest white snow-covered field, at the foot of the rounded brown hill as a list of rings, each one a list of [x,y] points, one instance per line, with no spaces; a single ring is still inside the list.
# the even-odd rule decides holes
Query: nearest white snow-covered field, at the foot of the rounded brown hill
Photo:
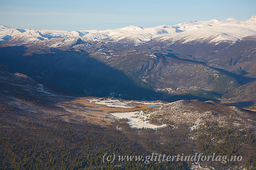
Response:
[[[143,111],[136,111],[136,112],[123,112],[123,113],[112,113],[111,115],[116,116],[117,118],[128,118],[128,124],[131,128],[161,128],[166,127],[166,124],[163,124],[161,126],[156,126],[153,124],[149,124],[147,117],[149,115],[144,114]]]

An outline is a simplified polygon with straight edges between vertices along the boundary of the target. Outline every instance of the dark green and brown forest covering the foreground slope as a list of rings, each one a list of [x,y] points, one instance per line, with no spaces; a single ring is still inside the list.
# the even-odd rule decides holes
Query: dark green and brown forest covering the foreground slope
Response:
[[[39,101],[38,101],[39,102]],[[39,102],[42,103],[42,102]],[[127,119],[108,126],[86,122],[68,122],[31,114],[4,103],[1,112],[1,169],[188,169],[190,161],[110,161],[103,162],[105,153],[116,157],[161,155],[226,155],[243,157],[241,161],[207,162],[215,169],[256,167],[254,129],[239,131],[205,122],[191,139],[186,125],[179,129],[131,129]],[[117,130],[117,128],[119,130]],[[216,141],[221,141],[216,143]],[[204,165],[204,162],[199,162]]]

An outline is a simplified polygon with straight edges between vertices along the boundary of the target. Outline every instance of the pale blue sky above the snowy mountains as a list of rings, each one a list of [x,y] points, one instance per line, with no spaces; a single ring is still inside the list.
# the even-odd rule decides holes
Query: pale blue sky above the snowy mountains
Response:
[[[256,0],[0,0],[0,24],[23,29],[153,27],[252,15],[256,15]]]

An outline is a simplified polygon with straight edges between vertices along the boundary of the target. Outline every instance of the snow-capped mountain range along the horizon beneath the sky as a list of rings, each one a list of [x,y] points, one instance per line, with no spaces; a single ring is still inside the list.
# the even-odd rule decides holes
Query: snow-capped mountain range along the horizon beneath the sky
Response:
[[[161,25],[151,28],[127,26],[108,30],[83,30],[83,31],[56,31],[9,28],[0,25],[0,42],[13,38],[18,42],[44,41],[52,38],[74,37],[81,40],[111,41],[131,40],[134,45],[139,45],[152,39],[159,41],[172,40],[183,43],[191,40],[206,40],[210,43],[220,43],[226,40],[232,43],[240,41],[242,37],[256,34],[256,16],[248,20],[229,18],[223,21],[212,19],[209,21],[190,21],[177,25]],[[15,41],[17,43],[17,41]]]

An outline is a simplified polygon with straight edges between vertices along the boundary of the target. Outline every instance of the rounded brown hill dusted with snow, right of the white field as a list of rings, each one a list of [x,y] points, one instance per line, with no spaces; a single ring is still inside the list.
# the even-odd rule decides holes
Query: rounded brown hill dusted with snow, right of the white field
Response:
[[[151,118],[174,127],[182,124],[195,129],[205,122],[216,122],[221,127],[254,127],[256,113],[214,101],[179,100],[149,110]]]

